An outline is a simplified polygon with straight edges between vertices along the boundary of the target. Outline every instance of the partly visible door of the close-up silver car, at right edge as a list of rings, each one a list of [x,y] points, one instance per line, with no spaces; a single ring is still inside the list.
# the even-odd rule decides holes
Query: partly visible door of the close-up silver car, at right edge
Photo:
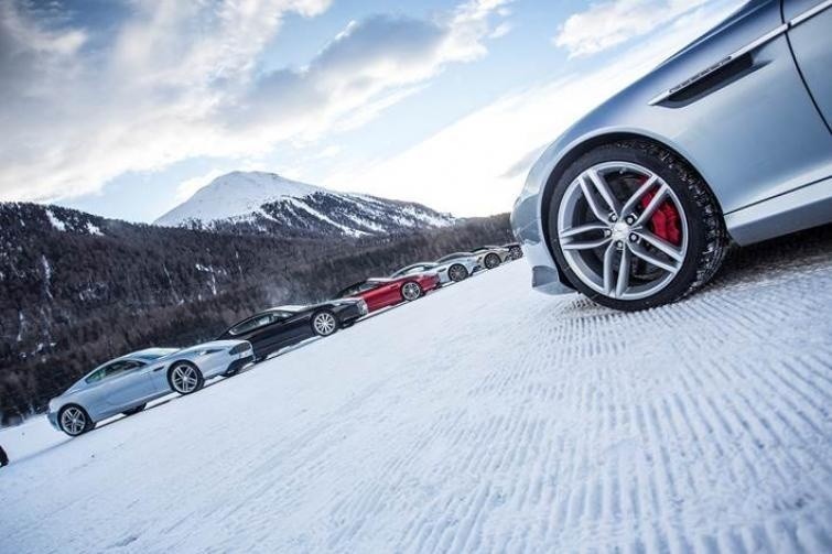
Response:
[[[800,75],[832,132],[832,3],[784,0],[782,14]]]

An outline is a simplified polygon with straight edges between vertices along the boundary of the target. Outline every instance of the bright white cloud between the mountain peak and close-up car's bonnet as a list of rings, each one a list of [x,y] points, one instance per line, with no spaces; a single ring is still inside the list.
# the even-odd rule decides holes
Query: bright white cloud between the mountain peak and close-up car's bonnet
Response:
[[[543,145],[727,15],[726,3],[685,17],[605,67],[509,95],[389,160],[335,167],[324,184],[424,203],[460,216],[511,209]]]

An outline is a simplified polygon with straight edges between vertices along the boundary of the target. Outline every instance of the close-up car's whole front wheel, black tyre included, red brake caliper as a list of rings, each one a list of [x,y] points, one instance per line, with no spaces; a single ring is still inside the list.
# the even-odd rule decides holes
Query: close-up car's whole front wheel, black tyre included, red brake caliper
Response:
[[[702,177],[644,141],[599,146],[568,167],[553,189],[548,227],[575,289],[625,311],[693,292],[727,248],[720,206]]]

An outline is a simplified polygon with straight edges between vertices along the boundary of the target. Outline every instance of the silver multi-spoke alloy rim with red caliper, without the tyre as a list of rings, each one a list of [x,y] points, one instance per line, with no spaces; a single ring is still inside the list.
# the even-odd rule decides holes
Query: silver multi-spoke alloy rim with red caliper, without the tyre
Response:
[[[566,188],[558,241],[586,286],[616,300],[640,300],[668,286],[682,269],[688,224],[682,203],[659,175],[630,162],[605,162]]]

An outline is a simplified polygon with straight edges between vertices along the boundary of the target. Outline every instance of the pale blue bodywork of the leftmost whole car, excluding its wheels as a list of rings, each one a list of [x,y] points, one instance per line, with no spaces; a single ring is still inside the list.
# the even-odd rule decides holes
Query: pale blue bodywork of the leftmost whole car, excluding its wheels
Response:
[[[252,356],[250,345],[248,349],[239,354],[231,354],[230,350],[239,345],[248,345],[248,343],[215,340],[184,349],[168,349],[164,356],[151,360],[145,355],[153,349],[139,350],[109,360],[80,378],[66,392],[50,401],[47,413],[50,423],[60,430],[57,415],[67,404],[80,405],[94,422],[99,422],[170,394],[173,391],[168,381],[168,369],[180,361],[194,363],[199,368],[205,380],[219,377],[234,361]],[[100,381],[87,381],[96,371],[116,361],[125,360],[138,361],[143,366]]]

